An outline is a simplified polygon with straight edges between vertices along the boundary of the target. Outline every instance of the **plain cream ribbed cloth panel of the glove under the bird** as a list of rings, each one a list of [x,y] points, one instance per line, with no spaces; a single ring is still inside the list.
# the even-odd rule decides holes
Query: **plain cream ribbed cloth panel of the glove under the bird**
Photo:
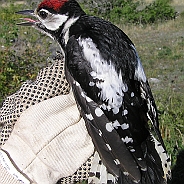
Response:
[[[32,182],[54,184],[76,172],[94,146],[70,92],[23,112],[3,150]]]

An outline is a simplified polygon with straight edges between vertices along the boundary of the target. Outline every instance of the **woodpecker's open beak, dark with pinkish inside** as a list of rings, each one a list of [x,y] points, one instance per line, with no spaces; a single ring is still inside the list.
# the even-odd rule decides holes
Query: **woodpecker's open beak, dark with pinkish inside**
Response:
[[[21,14],[21,15],[27,15],[27,16],[36,17],[36,15],[35,15],[33,10],[22,10],[22,11],[18,11],[16,13],[17,14]],[[21,18],[21,20],[24,20],[24,22],[17,23],[17,25],[21,25],[21,26],[35,26],[36,23],[40,22],[38,20],[33,20],[31,18]]]

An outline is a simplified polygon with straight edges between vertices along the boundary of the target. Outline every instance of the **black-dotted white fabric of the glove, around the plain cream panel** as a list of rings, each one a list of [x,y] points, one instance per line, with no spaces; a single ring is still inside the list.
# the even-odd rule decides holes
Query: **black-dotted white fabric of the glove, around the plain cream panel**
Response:
[[[7,97],[0,108],[0,147],[9,138],[21,113],[43,100],[68,94],[70,86],[64,75],[64,62],[59,54],[53,64],[41,69],[35,81],[26,81],[21,88]],[[57,184],[71,184],[87,180],[93,156],[73,176],[60,179]]]

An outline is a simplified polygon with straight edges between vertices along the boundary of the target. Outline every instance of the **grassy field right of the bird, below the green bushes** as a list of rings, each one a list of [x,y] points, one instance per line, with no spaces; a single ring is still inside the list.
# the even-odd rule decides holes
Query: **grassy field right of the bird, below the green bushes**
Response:
[[[119,26],[135,43],[148,79],[160,80],[150,85],[172,164],[175,163],[178,151],[184,148],[183,23],[181,16],[162,24]]]

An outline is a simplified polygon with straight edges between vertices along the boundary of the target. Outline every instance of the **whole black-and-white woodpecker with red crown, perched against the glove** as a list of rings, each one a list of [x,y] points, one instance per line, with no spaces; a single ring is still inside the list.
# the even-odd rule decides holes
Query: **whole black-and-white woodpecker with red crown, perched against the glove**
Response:
[[[163,184],[170,159],[161,137],[155,101],[136,48],[112,23],[87,15],[75,0],[43,0],[23,10],[23,26],[54,39],[65,58],[65,74],[96,149],[89,181]],[[101,160],[101,163],[99,162]],[[103,178],[104,179],[104,178]]]

